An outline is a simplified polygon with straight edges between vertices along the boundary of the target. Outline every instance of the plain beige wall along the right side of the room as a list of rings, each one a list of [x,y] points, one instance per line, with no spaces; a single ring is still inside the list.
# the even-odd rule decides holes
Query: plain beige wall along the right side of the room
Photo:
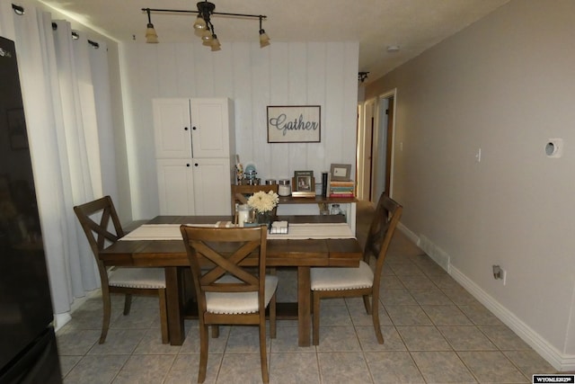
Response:
[[[548,361],[571,370],[574,23],[571,0],[514,0],[365,92],[369,100],[397,88],[393,195],[403,225]],[[562,158],[545,156],[549,138],[563,138]],[[507,271],[505,285],[492,264]]]

